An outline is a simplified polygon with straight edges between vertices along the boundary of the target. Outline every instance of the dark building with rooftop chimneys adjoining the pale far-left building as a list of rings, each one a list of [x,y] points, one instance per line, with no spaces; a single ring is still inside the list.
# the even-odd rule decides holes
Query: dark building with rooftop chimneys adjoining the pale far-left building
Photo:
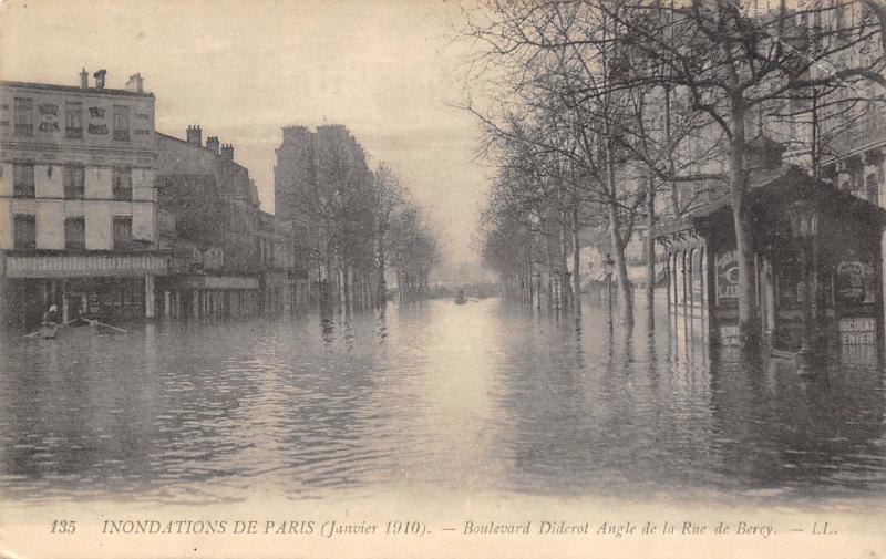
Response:
[[[159,207],[177,267],[162,286],[166,318],[249,315],[261,311],[259,201],[234,147],[190,126],[186,139],[157,134]]]

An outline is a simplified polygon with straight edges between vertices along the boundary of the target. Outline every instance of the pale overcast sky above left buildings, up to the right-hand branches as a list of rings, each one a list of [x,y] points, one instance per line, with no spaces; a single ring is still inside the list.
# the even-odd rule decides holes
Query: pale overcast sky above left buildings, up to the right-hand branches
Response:
[[[81,68],[123,87],[141,72],[156,128],[219,136],[274,208],[274,149],[287,124],[346,124],[403,178],[456,260],[486,170],[473,163],[462,43],[442,0],[45,1],[2,7],[0,76],[76,85]]]

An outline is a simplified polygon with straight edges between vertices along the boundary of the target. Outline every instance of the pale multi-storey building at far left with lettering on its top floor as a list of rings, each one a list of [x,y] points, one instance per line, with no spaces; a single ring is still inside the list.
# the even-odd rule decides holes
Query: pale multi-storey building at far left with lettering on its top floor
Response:
[[[0,82],[0,320],[152,318],[157,249],[154,95],[105,71],[80,86]]]

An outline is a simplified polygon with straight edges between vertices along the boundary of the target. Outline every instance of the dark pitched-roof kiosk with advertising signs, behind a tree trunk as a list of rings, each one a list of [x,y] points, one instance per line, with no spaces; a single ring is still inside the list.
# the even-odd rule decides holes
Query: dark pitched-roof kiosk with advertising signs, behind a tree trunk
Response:
[[[886,211],[793,168],[746,195],[763,343],[776,355],[883,340],[879,241]],[[738,343],[739,282],[727,197],[659,228],[671,312],[708,319],[712,342]]]

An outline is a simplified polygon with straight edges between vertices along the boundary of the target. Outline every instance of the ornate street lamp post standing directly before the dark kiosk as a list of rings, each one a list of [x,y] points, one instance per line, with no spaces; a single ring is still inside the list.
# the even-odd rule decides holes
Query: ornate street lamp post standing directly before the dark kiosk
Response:
[[[814,334],[812,303],[813,290],[817,290],[810,283],[810,273],[814,270],[810,270],[808,245],[814,242],[818,230],[818,213],[812,201],[801,199],[787,207],[787,218],[791,221],[791,232],[799,240],[800,246],[800,272],[802,275],[800,286],[803,287],[803,300],[800,302],[803,308],[803,335],[797,352],[797,368],[805,371],[812,365],[812,338]],[[797,297],[797,299],[800,298]]]

